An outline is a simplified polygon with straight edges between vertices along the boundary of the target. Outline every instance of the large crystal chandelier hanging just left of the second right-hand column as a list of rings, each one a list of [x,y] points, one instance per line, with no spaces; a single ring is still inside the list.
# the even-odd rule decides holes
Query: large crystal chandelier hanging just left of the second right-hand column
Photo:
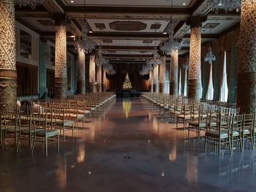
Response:
[[[173,0],[171,0],[170,9],[173,8]],[[171,10],[172,12],[172,10]],[[174,27],[173,27],[173,14],[170,14],[170,26],[168,28],[168,41],[165,42],[161,47],[163,53],[170,53],[171,50],[181,49],[181,41],[174,38]]]

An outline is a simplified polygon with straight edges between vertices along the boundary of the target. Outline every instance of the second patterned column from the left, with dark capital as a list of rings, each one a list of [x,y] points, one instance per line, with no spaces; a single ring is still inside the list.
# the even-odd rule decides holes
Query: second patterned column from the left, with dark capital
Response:
[[[67,97],[67,37],[65,15],[57,15],[55,20],[55,80],[54,96]]]

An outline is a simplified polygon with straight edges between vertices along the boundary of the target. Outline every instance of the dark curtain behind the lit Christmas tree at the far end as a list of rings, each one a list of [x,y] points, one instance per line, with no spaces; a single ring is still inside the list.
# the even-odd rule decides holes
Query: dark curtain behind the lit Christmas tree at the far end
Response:
[[[110,80],[110,90],[108,91],[123,91],[123,84],[127,73],[132,83],[132,90],[148,91],[146,87],[148,75],[140,75],[141,64],[114,64],[113,66],[116,70],[116,74],[107,74],[106,76],[108,80]]]

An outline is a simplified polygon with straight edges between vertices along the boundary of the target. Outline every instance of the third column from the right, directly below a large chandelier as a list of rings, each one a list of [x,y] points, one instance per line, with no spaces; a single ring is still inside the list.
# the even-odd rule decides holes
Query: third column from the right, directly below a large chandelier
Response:
[[[178,50],[170,52],[170,95],[178,95]]]

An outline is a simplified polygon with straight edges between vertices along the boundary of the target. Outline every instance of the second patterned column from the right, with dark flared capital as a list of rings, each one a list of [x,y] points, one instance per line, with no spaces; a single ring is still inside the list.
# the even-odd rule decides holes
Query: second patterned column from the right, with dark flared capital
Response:
[[[186,21],[191,28],[187,96],[192,99],[201,98],[201,27],[206,19],[206,16],[198,15]]]

